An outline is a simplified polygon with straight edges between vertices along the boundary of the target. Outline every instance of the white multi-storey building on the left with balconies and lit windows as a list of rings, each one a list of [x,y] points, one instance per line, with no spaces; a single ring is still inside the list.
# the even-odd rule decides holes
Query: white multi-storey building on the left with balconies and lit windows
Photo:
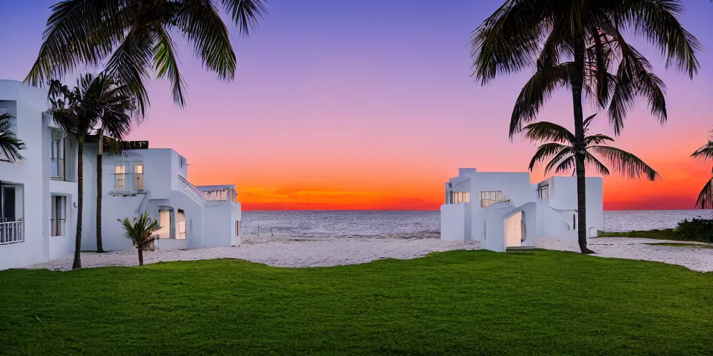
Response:
[[[0,157],[0,270],[74,251],[77,142],[56,127],[48,108],[42,90],[0,80],[0,113],[15,117],[11,130],[26,145],[19,164]],[[103,156],[105,250],[133,248],[117,219],[145,211],[162,226],[157,248],[240,244],[235,186],[195,187],[188,181],[185,157],[170,149],[148,149],[148,142],[131,143],[130,150]],[[96,143],[84,147],[83,250],[96,248],[97,152]]]

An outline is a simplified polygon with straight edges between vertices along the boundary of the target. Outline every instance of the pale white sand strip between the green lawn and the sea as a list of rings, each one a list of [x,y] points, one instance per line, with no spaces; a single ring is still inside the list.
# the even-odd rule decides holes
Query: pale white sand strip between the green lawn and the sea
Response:
[[[713,271],[713,248],[655,246],[672,243],[652,239],[597,238],[590,239],[595,256],[659,261],[685,266],[694,271]],[[540,239],[538,248],[561,251],[578,251],[576,243]],[[433,236],[389,237],[249,237],[237,247],[196,248],[190,250],[165,250],[144,253],[145,263],[161,261],[195,261],[213,258],[238,258],[277,267],[325,267],[367,263],[383,258],[410,259],[426,256],[434,251],[477,250],[478,242],[441,241]],[[82,266],[135,266],[135,250],[109,253],[82,253]],[[28,268],[48,268],[68,271],[72,256],[39,263]]]

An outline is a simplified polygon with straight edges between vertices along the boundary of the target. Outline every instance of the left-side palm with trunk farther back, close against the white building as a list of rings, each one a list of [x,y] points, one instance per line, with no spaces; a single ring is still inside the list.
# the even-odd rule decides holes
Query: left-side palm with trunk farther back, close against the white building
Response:
[[[99,152],[96,156],[96,250],[103,252],[104,248],[101,239],[101,200],[102,200],[102,162],[104,153],[104,136],[108,135],[116,140],[123,140],[131,130],[131,117],[135,110],[135,103],[125,85],[118,85],[115,80],[108,75],[99,75],[98,85],[100,93],[96,93],[101,98],[103,108],[101,116],[98,117],[96,135],[98,136]]]

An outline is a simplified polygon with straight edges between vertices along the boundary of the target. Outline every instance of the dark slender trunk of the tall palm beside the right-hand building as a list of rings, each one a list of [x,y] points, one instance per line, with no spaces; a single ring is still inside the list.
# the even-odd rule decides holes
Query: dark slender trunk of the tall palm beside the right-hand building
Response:
[[[587,248],[587,179],[585,179],[584,114],[582,110],[582,90],[584,86],[584,43],[575,44],[574,67],[570,73],[572,103],[575,116],[575,169],[577,174],[577,237],[582,253],[594,253]]]

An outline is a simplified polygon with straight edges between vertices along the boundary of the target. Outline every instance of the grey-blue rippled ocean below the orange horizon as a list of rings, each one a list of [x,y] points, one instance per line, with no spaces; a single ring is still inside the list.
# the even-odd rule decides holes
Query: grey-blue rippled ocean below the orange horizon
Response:
[[[243,211],[243,236],[433,236],[439,211]],[[604,211],[604,231],[667,229],[683,219],[713,218],[709,210]]]

